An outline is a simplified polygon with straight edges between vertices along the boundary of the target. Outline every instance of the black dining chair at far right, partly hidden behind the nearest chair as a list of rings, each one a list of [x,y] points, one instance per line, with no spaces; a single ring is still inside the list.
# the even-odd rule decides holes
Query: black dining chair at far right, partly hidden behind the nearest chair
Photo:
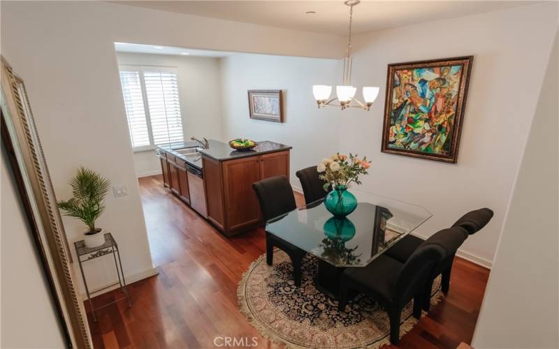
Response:
[[[493,217],[493,211],[491,211],[491,209],[476,209],[462,216],[460,219],[458,219],[458,221],[456,221],[456,223],[452,225],[452,227],[463,228],[465,240],[468,235],[472,235],[475,232],[481,230],[481,228],[484,228],[484,226],[491,220],[491,217]],[[458,238],[456,239],[456,241],[458,241]],[[403,263],[409,258],[410,255],[412,255],[412,253],[414,253],[416,248],[423,244],[423,241],[424,240],[420,237],[416,237],[414,235],[406,235],[402,238],[402,240],[389,248],[389,250],[386,251],[385,254]],[[460,242],[458,246],[456,246],[456,250],[460,248],[462,243],[463,241]],[[447,258],[445,258],[445,260],[443,260],[440,265],[437,266],[435,271],[436,274],[432,278],[434,280],[439,274],[442,275],[441,289],[444,293],[449,292],[452,263],[454,260],[454,255],[456,255],[456,250],[454,250],[453,253],[450,253],[451,251],[447,251],[449,255],[447,255]],[[426,311],[430,309],[430,302],[428,301],[428,299],[426,299],[426,302],[424,302],[423,309]]]

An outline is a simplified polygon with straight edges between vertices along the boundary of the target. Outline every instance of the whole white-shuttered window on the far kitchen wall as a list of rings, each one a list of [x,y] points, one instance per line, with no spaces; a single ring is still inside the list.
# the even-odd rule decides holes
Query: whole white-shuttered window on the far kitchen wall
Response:
[[[134,150],[184,140],[177,69],[120,66],[126,118]]]

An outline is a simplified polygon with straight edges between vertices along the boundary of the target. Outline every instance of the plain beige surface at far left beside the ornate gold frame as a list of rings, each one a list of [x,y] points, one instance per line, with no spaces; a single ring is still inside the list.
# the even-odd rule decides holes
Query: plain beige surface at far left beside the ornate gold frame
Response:
[[[3,147],[2,147],[3,149]],[[43,276],[8,161],[1,158],[1,348],[64,348],[57,311]]]

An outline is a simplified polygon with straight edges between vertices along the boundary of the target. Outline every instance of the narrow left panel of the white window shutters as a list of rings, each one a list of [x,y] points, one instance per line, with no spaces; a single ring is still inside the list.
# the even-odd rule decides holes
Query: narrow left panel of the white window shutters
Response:
[[[132,147],[146,147],[150,145],[150,133],[147,129],[145,107],[138,69],[120,70],[120,82],[124,95],[124,107]]]

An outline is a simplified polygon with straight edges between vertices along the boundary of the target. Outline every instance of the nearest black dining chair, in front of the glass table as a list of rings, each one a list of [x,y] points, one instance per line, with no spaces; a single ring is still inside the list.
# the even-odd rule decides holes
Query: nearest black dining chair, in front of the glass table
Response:
[[[444,258],[444,250],[426,242],[402,263],[387,255],[379,255],[366,267],[347,268],[340,281],[338,311],[344,311],[349,290],[358,290],[382,306],[390,319],[390,341],[400,340],[402,309],[414,299],[414,318],[421,318],[421,302],[426,280],[435,265]]]

